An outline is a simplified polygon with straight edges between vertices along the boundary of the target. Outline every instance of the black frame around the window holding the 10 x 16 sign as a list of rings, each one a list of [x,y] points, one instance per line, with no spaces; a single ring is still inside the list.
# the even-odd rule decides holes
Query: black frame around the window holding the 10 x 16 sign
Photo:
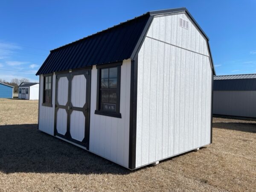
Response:
[[[97,68],[97,96],[96,96],[96,110],[94,114],[103,115],[103,116],[111,116],[116,118],[122,118],[120,113],[120,82],[121,82],[121,62],[111,63],[111,64],[102,64],[96,65]],[[101,70],[102,69],[109,69],[109,68],[117,68],[117,84],[116,84],[116,112],[111,111],[104,111],[100,110],[99,106],[99,91],[101,86]]]

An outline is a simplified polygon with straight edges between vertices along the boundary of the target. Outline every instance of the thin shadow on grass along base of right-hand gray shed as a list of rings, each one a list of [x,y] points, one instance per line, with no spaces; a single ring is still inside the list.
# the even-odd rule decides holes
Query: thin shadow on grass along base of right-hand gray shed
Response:
[[[249,133],[256,133],[256,123],[242,123],[242,122],[214,122],[213,128],[230,129],[235,131],[244,131]]]

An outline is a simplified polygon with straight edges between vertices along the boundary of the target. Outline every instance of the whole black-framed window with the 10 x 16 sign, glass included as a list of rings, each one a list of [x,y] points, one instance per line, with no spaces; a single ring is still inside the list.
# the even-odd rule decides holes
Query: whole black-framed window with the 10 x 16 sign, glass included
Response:
[[[120,72],[121,64],[97,66],[97,108],[95,114],[121,118],[120,105]]]

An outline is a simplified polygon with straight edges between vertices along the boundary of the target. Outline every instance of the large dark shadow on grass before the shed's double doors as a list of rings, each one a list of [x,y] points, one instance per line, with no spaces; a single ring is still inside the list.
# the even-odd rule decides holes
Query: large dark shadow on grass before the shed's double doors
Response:
[[[0,171],[122,175],[131,172],[38,131],[37,124],[0,125]]]

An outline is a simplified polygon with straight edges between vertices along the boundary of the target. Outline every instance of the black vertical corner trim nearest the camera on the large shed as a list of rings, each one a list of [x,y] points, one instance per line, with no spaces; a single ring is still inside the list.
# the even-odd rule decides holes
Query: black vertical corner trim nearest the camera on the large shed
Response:
[[[129,134],[129,169],[136,168],[136,134],[137,134],[137,79],[138,56],[131,61],[131,98],[130,98],[130,134]]]

